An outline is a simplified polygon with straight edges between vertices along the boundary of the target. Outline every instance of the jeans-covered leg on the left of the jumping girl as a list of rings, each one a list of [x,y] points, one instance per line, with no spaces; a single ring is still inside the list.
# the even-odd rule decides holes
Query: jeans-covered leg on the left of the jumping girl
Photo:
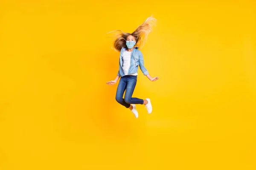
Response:
[[[121,105],[125,106],[125,108],[132,107],[130,104],[125,102],[125,99],[123,99],[123,95],[125,92],[125,88],[127,87],[127,82],[125,78],[122,78],[119,80],[119,84],[117,86],[116,90],[116,101],[119,102]]]

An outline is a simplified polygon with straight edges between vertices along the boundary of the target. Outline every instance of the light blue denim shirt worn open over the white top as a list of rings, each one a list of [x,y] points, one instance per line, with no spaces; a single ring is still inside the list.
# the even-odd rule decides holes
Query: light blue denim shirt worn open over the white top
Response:
[[[131,65],[128,70],[128,74],[134,74],[137,73],[138,71],[138,66],[140,65],[140,70],[143,72],[144,75],[149,74],[147,69],[144,66],[144,60],[143,60],[143,55],[140,50],[138,50],[139,47],[134,47],[134,49],[131,51]],[[122,59],[122,54],[127,50],[127,48],[122,47],[120,51],[120,56],[119,56],[119,71],[118,71],[118,76],[123,77],[125,76],[125,73],[122,69],[122,64],[123,64],[123,59]]]

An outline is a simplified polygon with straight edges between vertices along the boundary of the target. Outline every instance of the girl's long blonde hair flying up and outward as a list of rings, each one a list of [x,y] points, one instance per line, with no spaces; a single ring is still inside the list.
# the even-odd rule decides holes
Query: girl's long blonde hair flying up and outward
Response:
[[[127,32],[123,32],[121,30],[114,30],[114,31],[108,32],[108,33],[117,32],[116,35],[113,36],[113,37],[116,37],[116,40],[113,43],[114,50],[121,51],[122,47],[127,48],[126,38],[129,35],[132,35],[133,37],[135,37],[136,44],[134,45],[134,48],[135,47],[143,48],[143,46],[145,45],[145,42],[147,41],[148,34],[153,30],[153,26],[155,26],[156,23],[157,23],[157,19],[155,19],[151,14],[151,16],[148,17],[144,21],[144,23],[138,26],[135,29],[135,31],[131,34]]]

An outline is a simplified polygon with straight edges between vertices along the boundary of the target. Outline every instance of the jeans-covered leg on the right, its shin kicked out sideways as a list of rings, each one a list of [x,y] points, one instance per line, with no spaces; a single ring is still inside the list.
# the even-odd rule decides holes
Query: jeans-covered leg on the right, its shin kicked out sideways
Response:
[[[129,104],[144,104],[143,99],[139,99],[136,97],[131,97],[135,86],[137,84],[137,76],[129,76],[127,77],[127,85],[126,85],[126,91],[125,91],[125,102]]]

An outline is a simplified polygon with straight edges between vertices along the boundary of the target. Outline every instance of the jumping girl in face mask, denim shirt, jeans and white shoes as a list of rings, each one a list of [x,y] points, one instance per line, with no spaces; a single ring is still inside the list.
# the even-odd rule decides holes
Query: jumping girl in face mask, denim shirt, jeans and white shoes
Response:
[[[139,99],[132,97],[134,88],[137,83],[138,66],[140,65],[140,70],[152,82],[159,79],[159,77],[152,78],[149,75],[147,69],[144,66],[143,54],[138,50],[139,47],[142,48],[144,46],[148,33],[152,31],[152,26],[154,25],[155,21],[156,19],[151,15],[151,17],[148,17],[144,23],[138,26],[136,30],[131,34],[121,30],[115,30],[121,32],[117,35],[118,37],[114,42],[114,49],[116,51],[120,51],[119,71],[116,78],[107,82],[107,84],[114,85],[119,77],[121,77],[116,91],[116,101],[125,106],[125,108],[129,108],[131,112],[134,113],[136,118],[138,118],[138,112],[134,104],[145,105],[147,112],[152,112],[150,99]],[[124,92],[125,97],[123,98]]]

